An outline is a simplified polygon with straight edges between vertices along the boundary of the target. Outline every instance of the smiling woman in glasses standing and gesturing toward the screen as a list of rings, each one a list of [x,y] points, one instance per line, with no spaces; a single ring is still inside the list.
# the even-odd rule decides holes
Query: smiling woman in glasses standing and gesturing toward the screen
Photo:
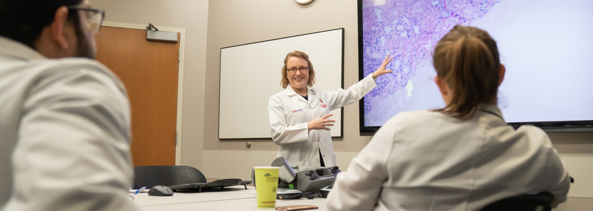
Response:
[[[301,51],[288,53],[280,81],[285,90],[273,95],[268,106],[272,139],[280,145],[278,157],[286,158],[291,165],[336,166],[327,127],[336,121],[328,119],[330,111],[361,99],[377,86],[377,77],[393,73],[385,69],[390,61],[385,57],[377,71],[347,90],[326,91],[309,88],[315,83],[309,56]]]

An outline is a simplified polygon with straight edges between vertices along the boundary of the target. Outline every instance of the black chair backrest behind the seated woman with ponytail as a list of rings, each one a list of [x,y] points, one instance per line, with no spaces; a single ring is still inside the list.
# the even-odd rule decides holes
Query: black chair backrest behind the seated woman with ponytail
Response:
[[[488,206],[484,207],[481,211],[526,211],[536,210],[538,207],[542,207],[542,211],[550,211],[550,203],[552,200],[554,200],[554,196],[548,192],[541,192],[533,195],[514,196],[488,204]]]

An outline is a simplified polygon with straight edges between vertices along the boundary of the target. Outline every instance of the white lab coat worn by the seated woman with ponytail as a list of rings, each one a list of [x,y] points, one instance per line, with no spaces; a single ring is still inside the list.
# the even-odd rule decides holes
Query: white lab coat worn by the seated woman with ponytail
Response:
[[[547,134],[515,131],[495,105],[480,110],[467,121],[433,111],[394,116],[338,174],[329,210],[469,211],[540,191],[554,195],[552,206],[565,202],[569,176]]]

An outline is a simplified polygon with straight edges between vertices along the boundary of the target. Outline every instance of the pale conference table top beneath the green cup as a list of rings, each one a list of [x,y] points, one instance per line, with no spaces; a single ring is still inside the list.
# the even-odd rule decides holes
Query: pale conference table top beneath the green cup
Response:
[[[173,210],[275,210],[274,208],[257,208],[255,187],[225,187],[224,189],[202,189],[177,191],[173,196],[148,196],[148,193],[130,193],[133,202],[145,211]],[[132,200],[130,198],[130,200]],[[276,200],[276,207],[291,205],[315,205],[317,210],[327,210],[326,199],[291,199]]]

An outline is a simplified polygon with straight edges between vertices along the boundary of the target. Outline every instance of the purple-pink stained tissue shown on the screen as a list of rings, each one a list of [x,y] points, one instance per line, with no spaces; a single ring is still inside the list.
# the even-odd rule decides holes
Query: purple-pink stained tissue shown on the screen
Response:
[[[377,87],[365,97],[365,115],[371,112],[370,99],[393,95],[406,85],[426,61],[432,63],[436,43],[455,25],[470,25],[482,18],[501,0],[363,0],[362,46],[364,75],[381,65],[387,54],[394,59]]]

